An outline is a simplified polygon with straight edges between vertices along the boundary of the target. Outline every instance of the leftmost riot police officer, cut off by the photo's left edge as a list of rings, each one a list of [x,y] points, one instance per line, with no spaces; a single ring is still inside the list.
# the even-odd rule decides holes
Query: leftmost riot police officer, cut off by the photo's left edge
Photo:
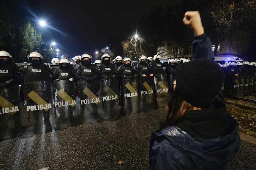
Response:
[[[4,131],[10,129],[8,127],[8,121],[14,120],[14,131],[21,132],[22,126],[20,122],[20,96],[19,96],[19,85],[20,85],[20,67],[12,61],[12,56],[6,51],[0,51],[0,91],[3,100],[10,102],[12,106],[16,108],[16,111],[11,111],[12,108],[4,105],[4,101],[0,103],[0,139],[4,139]],[[4,112],[2,110],[8,110]],[[7,108],[7,109],[6,109]],[[12,121],[10,121],[12,122]],[[3,135],[3,136],[2,136]],[[18,133],[16,133],[18,135]],[[11,134],[7,137],[12,137]]]

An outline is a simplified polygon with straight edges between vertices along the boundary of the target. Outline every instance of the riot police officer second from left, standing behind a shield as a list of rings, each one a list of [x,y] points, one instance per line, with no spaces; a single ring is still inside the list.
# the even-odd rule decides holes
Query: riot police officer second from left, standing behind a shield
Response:
[[[33,108],[37,108],[33,110],[33,114],[36,120],[36,124],[34,126],[34,133],[39,134],[44,132],[50,132],[52,131],[52,126],[50,123],[50,109],[52,107],[51,105],[49,105],[51,103],[50,99],[52,98],[51,71],[48,66],[43,64],[43,56],[40,53],[32,52],[27,57],[31,64],[23,68],[21,80],[22,85],[24,85],[24,97],[26,97],[26,101],[29,101],[28,105],[31,105],[27,106],[28,114],[30,115],[30,111],[32,111],[32,106],[34,106]],[[32,91],[38,92],[36,95],[34,95],[33,98],[28,96],[28,93]],[[44,100],[43,104],[48,103],[46,104],[45,109],[42,109],[41,107],[40,109],[38,109],[38,106],[41,106],[42,104],[36,102],[39,97],[42,99],[41,101]],[[30,116],[28,117],[30,119]],[[43,131],[43,128],[45,128],[45,131]]]

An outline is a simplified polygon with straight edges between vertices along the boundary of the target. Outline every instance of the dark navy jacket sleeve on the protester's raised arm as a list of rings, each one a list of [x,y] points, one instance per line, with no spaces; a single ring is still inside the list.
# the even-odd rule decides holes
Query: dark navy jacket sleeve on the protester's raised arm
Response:
[[[210,59],[214,60],[213,51],[211,48],[211,41],[206,36],[206,34],[202,34],[194,37],[194,41],[192,43],[193,46],[193,59]]]

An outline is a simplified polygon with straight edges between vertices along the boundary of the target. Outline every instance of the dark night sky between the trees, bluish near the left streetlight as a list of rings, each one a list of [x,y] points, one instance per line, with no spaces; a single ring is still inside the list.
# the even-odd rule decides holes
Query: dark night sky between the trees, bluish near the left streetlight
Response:
[[[67,54],[68,58],[91,53],[109,46],[109,38],[121,40],[135,34],[138,18],[147,16],[153,7],[161,5],[165,11],[168,4],[176,2],[40,0],[40,17],[48,24],[44,28],[43,41],[55,41],[60,53]]]

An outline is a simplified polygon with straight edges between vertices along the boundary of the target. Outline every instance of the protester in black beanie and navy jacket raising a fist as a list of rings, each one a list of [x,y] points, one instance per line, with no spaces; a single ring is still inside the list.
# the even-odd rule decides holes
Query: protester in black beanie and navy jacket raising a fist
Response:
[[[183,22],[195,33],[193,61],[181,64],[165,122],[150,142],[150,169],[226,169],[236,155],[237,122],[227,112],[220,89],[224,72],[214,61],[198,11]],[[198,59],[200,58],[200,59]]]

